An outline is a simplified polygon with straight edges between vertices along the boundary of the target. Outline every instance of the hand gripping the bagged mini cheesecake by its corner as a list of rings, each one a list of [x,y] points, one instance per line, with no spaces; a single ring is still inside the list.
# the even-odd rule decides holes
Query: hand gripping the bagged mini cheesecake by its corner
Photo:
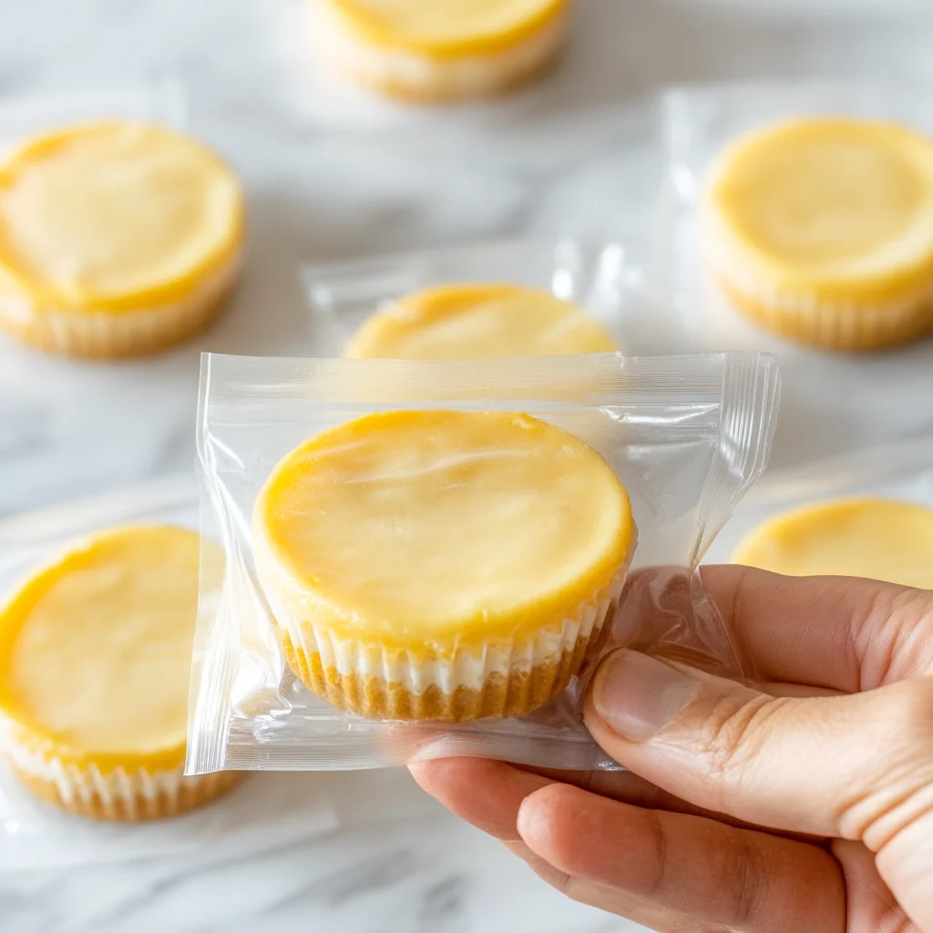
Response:
[[[756,686],[617,649],[587,727],[629,771],[411,765],[571,898],[662,933],[933,933],[933,592],[703,568]]]

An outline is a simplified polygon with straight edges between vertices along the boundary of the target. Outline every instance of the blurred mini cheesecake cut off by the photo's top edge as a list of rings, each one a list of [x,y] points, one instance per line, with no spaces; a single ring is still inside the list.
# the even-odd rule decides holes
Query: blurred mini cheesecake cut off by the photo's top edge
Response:
[[[570,0],[317,0],[315,38],[341,72],[392,97],[460,101],[543,73]]]

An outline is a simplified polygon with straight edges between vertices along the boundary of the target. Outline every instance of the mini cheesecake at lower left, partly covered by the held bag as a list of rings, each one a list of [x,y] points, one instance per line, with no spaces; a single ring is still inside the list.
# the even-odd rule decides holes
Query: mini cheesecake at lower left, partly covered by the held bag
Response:
[[[183,776],[201,540],[168,526],[92,537],[0,609],[0,717],[14,773],[70,813],[143,820],[239,775]],[[223,573],[219,548],[204,572]]]

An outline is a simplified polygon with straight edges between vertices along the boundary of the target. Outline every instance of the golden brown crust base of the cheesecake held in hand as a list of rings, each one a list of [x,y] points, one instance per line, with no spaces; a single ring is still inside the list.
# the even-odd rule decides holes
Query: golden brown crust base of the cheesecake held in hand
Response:
[[[466,722],[486,717],[513,717],[531,713],[550,703],[566,689],[587,656],[589,639],[579,639],[573,651],[565,651],[560,661],[541,664],[530,672],[489,675],[482,689],[458,687],[444,693],[432,685],[415,694],[401,684],[383,677],[341,674],[325,668],[321,656],[295,648],[285,631],[280,631],[285,659],[299,680],[327,703],[374,719],[433,720]]]

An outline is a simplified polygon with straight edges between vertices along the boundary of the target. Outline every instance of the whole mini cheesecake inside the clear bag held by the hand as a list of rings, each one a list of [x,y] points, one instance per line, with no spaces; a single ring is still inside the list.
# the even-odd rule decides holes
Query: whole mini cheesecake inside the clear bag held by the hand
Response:
[[[253,529],[295,674],[385,719],[548,703],[595,644],[634,549],[606,461],[506,411],[395,411],[326,431],[275,467]]]

